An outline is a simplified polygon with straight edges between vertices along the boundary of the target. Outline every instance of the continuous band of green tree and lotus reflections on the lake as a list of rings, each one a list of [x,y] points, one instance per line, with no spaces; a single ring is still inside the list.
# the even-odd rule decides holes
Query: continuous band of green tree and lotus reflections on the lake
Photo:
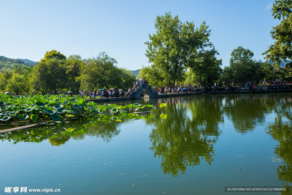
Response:
[[[116,121],[111,120],[112,116],[87,118],[33,130],[6,132],[0,134],[0,139],[13,143],[48,139],[52,146],[61,146],[70,139],[84,139],[86,135],[92,135],[109,142],[120,134],[120,125],[143,118],[151,127],[150,150],[154,157],[161,159],[161,170],[177,177],[184,174],[188,166],[202,162],[211,165],[216,152],[215,143],[224,130],[221,125],[226,121],[230,121],[234,130],[241,134],[256,131],[261,125],[279,143],[275,148],[280,163],[278,179],[291,188],[292,105],[289,94],[201,95],[129,103],[153,104],[154,108],[148,116],[125,113],[118,115]],[[161,108],[161,103],[167,106]],[[148,108],[143,111],[148,111]],[[167,117],[162,119],[161,114]]]

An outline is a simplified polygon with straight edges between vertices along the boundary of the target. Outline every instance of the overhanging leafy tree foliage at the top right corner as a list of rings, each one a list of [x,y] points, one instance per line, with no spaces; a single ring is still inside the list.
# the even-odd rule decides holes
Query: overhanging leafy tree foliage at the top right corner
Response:
[[[272,60],[274,66],[279,66],[281,59],[292,59],[292,1],[276,0],[272,6],[274,19],[279,19],[279,25],[272,27],[271,36],[274,44],[263,53],[265,59]]]

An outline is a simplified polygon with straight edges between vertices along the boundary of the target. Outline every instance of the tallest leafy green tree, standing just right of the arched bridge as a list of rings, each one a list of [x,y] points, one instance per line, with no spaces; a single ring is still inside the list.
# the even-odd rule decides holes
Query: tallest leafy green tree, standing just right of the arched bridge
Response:
[[[183,81],[186,70],[204,48],[212,47],[209,42],[211,30],[205,21],[200,28],[195,28],[193,22],[182,23],[178,15],[174,18],[171,13],[157,16],[155,23],[156,34],[149,34],[150,41],[146,56],[151,66],[144,67],[145,75],[150,84],[175,85]]]

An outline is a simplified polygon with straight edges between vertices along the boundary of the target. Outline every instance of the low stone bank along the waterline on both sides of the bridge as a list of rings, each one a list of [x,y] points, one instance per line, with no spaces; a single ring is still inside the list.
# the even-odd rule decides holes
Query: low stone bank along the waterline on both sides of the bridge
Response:
[[[292,93],[292,89],[285,90],[266,90],[266,91],[240,91],[240,92],[193,92],[193,93],[184,93],[184,94],[163,94],[158,97],[153,98],[167,98],[175,96],[189,96],[189,95],[222,95],[222,94],[267,94],[267,93]],[[134,100],[136,98],[131,97],[117,97],[117,98],[104,98],[104,99],[86,99],[85,102],[93,101],[95,103],[99,102],[109,102],[109,101],[124,101],[124,100]],[[142,99],[142,98],[139,98]],[[152,98],[151,98],[152,99]]]

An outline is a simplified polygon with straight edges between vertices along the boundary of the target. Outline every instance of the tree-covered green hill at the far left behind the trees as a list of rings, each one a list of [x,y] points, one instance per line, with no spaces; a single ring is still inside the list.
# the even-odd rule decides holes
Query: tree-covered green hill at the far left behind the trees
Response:
[[[13,67],[18,67],[19,65],[23,65],[24,68],[33,67],[32,63],[25,63],[20,59],[12,59],[6,58],[5,56],[0,56],[0,72],[4,73],[5,71],[12,71]]]

